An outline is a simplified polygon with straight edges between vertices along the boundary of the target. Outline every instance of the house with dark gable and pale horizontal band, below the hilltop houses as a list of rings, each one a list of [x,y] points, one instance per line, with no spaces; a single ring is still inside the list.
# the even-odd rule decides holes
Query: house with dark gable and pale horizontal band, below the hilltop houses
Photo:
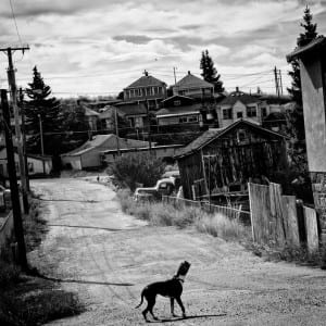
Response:
[[[177,128],[199,128],[202,122],[201,103],[196,103],[192,98],[173,96],[161,102],[163,106],[155,112],[158,126],[171,126]]]

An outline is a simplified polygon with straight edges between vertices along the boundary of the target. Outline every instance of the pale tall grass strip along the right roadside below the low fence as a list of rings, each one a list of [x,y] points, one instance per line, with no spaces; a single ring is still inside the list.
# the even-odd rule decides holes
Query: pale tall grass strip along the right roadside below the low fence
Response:
[[[200,233],[220,237],[227,241],[243,240],[250,237],[248,226],[222,214],[209,214],[193,206],[177,209],[172,204],[162,202],[136,202],[133,200],[130,191],[126,189],[117,191],[117,198],[123,212],[148,221],[151,225],[176,226],[179,228],[195,226]]]

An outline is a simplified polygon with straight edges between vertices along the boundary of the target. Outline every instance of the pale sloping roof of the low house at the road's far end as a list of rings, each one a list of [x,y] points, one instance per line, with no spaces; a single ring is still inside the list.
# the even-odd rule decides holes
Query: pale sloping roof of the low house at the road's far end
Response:
[[[105,150],[105,148],[109,150],[109,146],[105,147],[105,142],[109,139],[116,139],[117,137],[114,134],[110,135],[97,135],[92,140],[88,140],[85,143],[83,143],[80,147],[62,154],[61,156],[79,156],[95,148],[100,148],[102,151]],[[120,138],[118,137],[118,145],[121,149],[125,148],[138,148],[138,147],[145,147],[148,146],[148,141],[142,140],[136,140],[136,139],[127,139],[127,138]]]

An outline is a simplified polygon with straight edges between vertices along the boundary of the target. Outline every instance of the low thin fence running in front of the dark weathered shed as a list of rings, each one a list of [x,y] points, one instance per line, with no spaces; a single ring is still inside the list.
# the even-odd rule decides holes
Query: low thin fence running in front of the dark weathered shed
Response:
[[[163,196],[163,202],[173,204],[178,209],[183,209],[185,206],[195,206],[202,209],[208,213],[218,213],[223,214],[231,220],[240,220],[240,221],[250,221],[250,212],[241,210],[241,205],[215,205],[210,204],[205,201],[195,201],[184,198]]]

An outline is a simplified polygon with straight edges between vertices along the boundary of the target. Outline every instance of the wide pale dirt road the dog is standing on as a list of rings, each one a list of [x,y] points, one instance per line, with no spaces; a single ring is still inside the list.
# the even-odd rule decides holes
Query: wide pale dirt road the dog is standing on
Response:
[[[196,230],[149,227],[123,214],[115,193],[97,183],[62,178],[33,181],[41,193],[50,230],[29,254],[47,276],[65,280],[87,306],[51,325],[143,325],[141,288],[191,262],[183,300],[188,319],[164,325],[325,325],[326,273],[264,262],[240,246]],[[177,313],[179,310],[177,308]],[[160,322],[161,323],[161,322]]]

